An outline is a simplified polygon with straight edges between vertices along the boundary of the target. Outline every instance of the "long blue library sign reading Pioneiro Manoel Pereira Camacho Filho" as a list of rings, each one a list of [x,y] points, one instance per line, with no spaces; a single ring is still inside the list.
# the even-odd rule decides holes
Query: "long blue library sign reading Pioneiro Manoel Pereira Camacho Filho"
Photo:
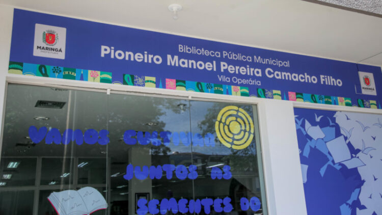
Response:
[[[375,109],[382,100],[380,67],[19,9],[9,73]]]

